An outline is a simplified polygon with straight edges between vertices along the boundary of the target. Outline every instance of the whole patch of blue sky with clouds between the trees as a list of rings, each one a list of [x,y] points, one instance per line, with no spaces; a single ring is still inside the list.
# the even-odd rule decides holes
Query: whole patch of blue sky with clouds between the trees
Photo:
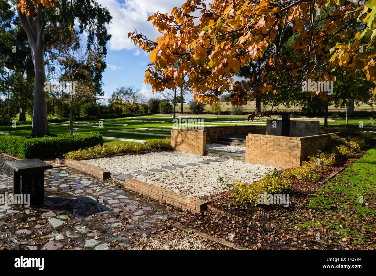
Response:
[[[155,40],[161,34],[147,22],[147,18],[154,12],[170,13],[171,10],[185,3],[185,0],[98,0],[98,3],[108,8],[113,19],[108,26],[112,35],[109,41],[107,68],[103,73],[103,98],[108,99],[119,86],[135,86],[141,90],[146,98],[158,97],[152,93],[152,87],[144,84],[146,64],[150,62],[149,54],[134,45],[128,38],[133,30],[142,32],[148,38]],[[188,96],[188,95],[187,95]],[[193,97],[187,97],[188,100]]]

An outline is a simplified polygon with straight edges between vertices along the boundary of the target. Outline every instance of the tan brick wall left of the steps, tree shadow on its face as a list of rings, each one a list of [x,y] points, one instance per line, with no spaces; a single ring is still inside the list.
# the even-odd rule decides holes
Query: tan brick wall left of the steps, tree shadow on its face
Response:
[[[232,125],[203,127],[201,130],[190,128],[173,128],[171,130],[171,146],[176,151],[205,154],[206,144],[218,137],[240,136],[249,133],[265,134],[266,127],[258,125]]]

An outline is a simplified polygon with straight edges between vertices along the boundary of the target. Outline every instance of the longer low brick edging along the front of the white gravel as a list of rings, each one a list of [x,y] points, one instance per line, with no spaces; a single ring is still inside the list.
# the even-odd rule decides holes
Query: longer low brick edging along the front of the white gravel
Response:
[[[124,184],[125,189],[132,190],[136,193],[141,193],[142,195],[148,196],[149,198],[153,198],[163,203],[173,205],[177,208],[182,208],[194,214],[200,214],[201,212],[207,210],[207,201],[202,201],[197,198],[186,196],[182,193],[176,193],[171,190],[148,184],[146,182],[141,182],[134,178],[126,179],[124,181],[116,178],[112,179],[121,184]]]

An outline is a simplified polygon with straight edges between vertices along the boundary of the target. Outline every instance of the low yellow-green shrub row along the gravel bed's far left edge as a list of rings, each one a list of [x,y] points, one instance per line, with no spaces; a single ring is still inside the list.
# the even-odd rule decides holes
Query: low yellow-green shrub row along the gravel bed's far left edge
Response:
[[[88,158],[122,153],[134,153],[150,149],[172,149],[170,138],[150,140],[146,144],[141,143],[118,143],[115,145],[97,145],[91,148],[79,149],[64,154],[66,159]]]

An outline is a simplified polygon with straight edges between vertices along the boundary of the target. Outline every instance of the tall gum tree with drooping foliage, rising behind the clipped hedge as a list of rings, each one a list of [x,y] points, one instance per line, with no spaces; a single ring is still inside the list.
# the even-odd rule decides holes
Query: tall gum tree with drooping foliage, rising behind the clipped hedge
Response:
[[[106,68],[104,57],[107,55],[106,43],[111,36],[106,24],[111,22],[111,15],[96,0],[17,0],[17,13],[26,32],[32,53],[35,72],[33,125],[31,136],[43,137],[49,134],[47,122],[46,91],[44,90],[45,67],[44,50],[47,52],[54,39],[49,28],[69,31],[75,22],[78,33],[86,32],[86,48],[101,55],[102,62],[93,72],[100,85],[102,72]],[[54,7],[53,7],[54,6]],[[53,7],[53,8],[52,8]],[[48,23],[48,24],[47,24]],[[46,29],[47,28],[47,29]],[[47,32],[45,32],[47,31]],[[46,35],[45,35],[46,33]]]

